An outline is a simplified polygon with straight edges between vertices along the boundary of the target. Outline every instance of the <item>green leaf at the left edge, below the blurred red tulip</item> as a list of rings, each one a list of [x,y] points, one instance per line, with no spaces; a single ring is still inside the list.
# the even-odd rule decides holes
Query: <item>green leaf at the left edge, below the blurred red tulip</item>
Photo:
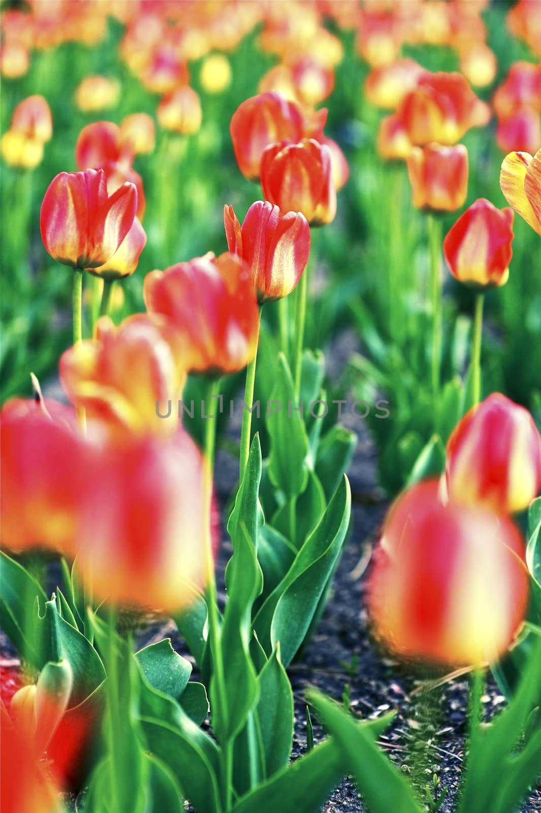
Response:
[[[38,669],[45,663],[40,656],[39,642],[33,626],[34,603],[36,598],[43,604],[47,597],[41,585],[15,559],[10,559],[0,551],[2,564],[2,629],[19,655]],[[50,660],[58,660],[51,658]]]

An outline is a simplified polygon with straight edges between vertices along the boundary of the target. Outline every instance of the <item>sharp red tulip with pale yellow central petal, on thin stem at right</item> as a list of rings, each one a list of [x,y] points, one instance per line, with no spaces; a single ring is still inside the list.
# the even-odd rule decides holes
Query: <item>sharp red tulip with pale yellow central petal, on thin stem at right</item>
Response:
[[[449,271],[475,288],[504,285],[513,257],[513,209],[496,209],[479,198],[452,226],[444,239]]]

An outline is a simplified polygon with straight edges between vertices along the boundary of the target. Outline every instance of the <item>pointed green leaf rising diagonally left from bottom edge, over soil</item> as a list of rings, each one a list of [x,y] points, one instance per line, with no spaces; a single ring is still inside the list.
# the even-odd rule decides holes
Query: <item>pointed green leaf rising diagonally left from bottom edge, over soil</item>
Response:
[[[370,813],[422,813],[413,789],[379,750],[370,729],[358,725],[344,708],[315,689],[308,698],[339,746],[344,767],[355,776],[357,790]]]

